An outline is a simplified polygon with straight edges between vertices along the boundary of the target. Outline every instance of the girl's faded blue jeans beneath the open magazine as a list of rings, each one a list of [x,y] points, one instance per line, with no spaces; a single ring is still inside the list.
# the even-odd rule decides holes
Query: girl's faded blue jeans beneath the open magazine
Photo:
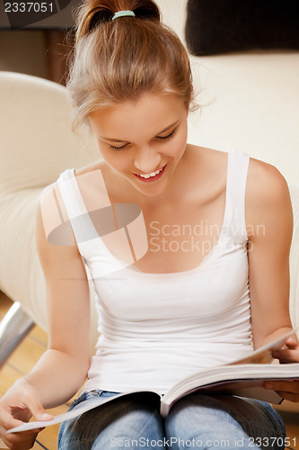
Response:
[[[116,393],[84,392],[70,410],[82,401]],[[58,450],[276,450],[285,448],[285,437],[282,419],[264,401],[192,393],[177,401],[163,419],[156,399],[135,394],[62,423]]]

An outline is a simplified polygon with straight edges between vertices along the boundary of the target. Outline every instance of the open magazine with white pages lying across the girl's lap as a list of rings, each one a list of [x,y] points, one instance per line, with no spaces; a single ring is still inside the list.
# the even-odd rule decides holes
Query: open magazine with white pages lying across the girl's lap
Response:
[[[292,330],[286,333],[282,338],[270,342],[258,350],[252,351],[249,356],[233,361],[229,365],[217,365],[206,369],[201,369],[176,383],[164,395],[151,391],[125,392],[110,397],[108,399],[95,397],[93,402],[88,405],[79,404],[75,410],[56,416],[47,421],[31,421],[12,428],[7,433],[16,433],[34,428],[44,428],[49,425],[55,425],[65,420],[74,419],[84,414],[88,410],[99,408],[105,403],[119,401],[119,398],[129,395],[143,395],[151,397],[160,402],[160,411],[163,417],[166,417],[171,406],[181,397],[190,392],[202,393],[226,393],[238,395],[241,397],[251,397],[270,403],[279,403],[282,399],[277,392],[267,390],[263,387],[265,381],[274,380],[299,380],[299,363],[279,365],[273,364],[272,352],[285,345],[286,339],[294,335]]]

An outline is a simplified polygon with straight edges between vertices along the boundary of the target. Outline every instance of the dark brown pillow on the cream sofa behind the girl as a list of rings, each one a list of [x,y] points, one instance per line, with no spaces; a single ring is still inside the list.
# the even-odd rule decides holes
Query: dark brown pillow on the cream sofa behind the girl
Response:
[[[186,40],[194,55],[299,49],[299,0],[189,0]]]

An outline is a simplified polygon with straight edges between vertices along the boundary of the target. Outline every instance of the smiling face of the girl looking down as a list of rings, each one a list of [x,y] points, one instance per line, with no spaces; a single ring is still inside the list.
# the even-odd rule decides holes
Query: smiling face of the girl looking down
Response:
[[[187,144],[186,105],[175,94],[144,94],[137,101],[92,112],[89,121],[104,161],[145,195],[171,185]]]

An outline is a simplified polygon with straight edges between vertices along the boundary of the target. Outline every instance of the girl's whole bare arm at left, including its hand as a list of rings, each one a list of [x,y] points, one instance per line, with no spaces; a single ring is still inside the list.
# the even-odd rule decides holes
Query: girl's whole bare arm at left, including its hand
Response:
[[[51,208],[47,195],[51,195],[50,189],[43,194],[43,207]],[[6,437],[4,430],[20,425],[20,420],[28,421],[32,415],[48,419],[43,416],[44,409],[69,400],[84,383],[90,366],[90,297],[82,258],[75,245],[48,242],[40,204],[36,236],[47,290],[48,350],[31,373],[14,383],[0,401],[0,436],[10,448],[22,450],[31,448],[26,442],[32,436],[34,442],[34,435],[27,432],[26,437]]]

